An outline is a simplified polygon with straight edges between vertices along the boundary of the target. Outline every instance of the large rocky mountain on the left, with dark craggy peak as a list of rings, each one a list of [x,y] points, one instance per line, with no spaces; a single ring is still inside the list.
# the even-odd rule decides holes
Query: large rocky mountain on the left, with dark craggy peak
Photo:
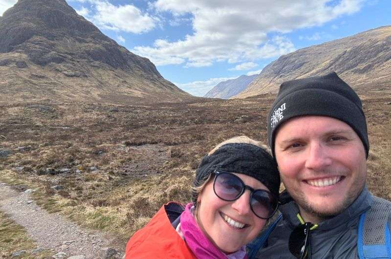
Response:
[[[189,98],[65,0],[19,0],[0,17],[0,102]]]

